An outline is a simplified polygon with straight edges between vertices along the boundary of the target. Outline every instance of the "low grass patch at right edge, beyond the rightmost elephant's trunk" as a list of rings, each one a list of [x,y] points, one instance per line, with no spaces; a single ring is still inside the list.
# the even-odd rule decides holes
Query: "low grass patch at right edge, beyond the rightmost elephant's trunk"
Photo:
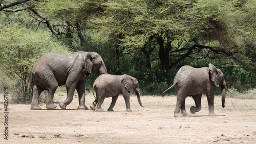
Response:
[[[239,92],[237,89],[231,87],[226,91],[226,96],[235,99],[256,99],[256,88],[248,91]]]

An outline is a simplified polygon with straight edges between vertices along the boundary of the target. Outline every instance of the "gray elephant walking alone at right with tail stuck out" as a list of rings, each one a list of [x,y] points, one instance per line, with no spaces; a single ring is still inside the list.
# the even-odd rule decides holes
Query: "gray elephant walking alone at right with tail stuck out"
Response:
[[[178,116],[181,110],[182,116],[186,116],[185,99],[191,96],[196,104],[190,107],[190,112],[195,114],[201,110],[202,92],[206,92],[209,106],[209,116],[215,116],[214,113],[214,86],[221,87],[222,107],[225,107],[226,82],[224,75],[219,68],[209,63],[209,67],[194,68],[188,65],[182,66],[174,78],[174,84],[166,89],[163,94],[172,87],[177,90],[177,103],[174,111],[174,117]]]

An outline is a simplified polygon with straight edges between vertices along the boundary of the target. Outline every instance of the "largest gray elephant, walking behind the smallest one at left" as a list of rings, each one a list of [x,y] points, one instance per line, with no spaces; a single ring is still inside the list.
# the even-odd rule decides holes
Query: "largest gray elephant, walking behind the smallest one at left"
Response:
[[[107,73],[102,58],[97,53],[76,52],[69,55],[48,53],[41,56],[31,70],[33,99],[32,110],[39,110],[38,98],[42,91],[47,90],[46,108],[55,109],[53,95],[58,86],[66,85],[67,99],[59,103],[65,110],[73,100],[75,89],[78,93],[78,109],[88,109],[84,98],[84,75],[90,73],[97,76]]]

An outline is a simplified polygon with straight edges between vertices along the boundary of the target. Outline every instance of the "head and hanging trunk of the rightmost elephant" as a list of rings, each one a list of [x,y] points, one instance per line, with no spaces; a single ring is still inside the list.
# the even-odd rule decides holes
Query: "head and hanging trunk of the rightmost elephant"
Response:
[[[213,64],[209,63],[209,69],[210,69],[210,79],[212,82],[214,82],[214,85],[218,88],[221,87],[222,91],[222,107],[225,107],[225,97],[226,97],[226,82],[224,79],[224,75],[222,71],[219,68],[216,68]]]

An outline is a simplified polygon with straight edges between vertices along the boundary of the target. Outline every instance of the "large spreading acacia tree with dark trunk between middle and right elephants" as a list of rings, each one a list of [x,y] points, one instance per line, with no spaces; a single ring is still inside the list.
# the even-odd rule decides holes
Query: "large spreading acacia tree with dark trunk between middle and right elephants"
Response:
[[[98,35],[116,38],[119,48],[125,47],[125,51],[142,51],[148,68],[151,68],[152,52],[158,51],[159,69],[165,76],[170,68],[187,57],[216,59],[224,56],[242,62],[238,55],[244,56],[245,49],[248,53],[255,49],[255,37],[248,41],[245,35],[255,32],[252,25],[255,12],[251,11],[255,2],[252,1],[113,0],[102,5],[102,16],[92,19],[98,26]],[[245,13],[249,10],[250,13]],[[246,18],[249,20],[245,21]],[[237,41],[241,36],[243,40]],[[247,42],[250,48],[242,46]],[[249,59],[247,62],[253,64],[253,59]]]

